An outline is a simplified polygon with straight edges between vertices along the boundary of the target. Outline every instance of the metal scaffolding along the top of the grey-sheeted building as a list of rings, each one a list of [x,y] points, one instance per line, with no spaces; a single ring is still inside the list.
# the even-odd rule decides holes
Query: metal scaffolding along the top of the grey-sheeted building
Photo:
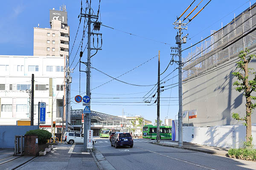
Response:
[[[212,30],[211,37],[196,47],[183,59],[183,80],[190,79],[205,71],[237,57],[245,48],[256,46],[256,5],[235,17],[218,31]]]

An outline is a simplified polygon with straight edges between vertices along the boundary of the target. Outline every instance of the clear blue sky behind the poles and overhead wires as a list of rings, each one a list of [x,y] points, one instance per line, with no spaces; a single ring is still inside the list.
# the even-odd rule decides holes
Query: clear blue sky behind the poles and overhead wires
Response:
[[[188,14],[201,0],[196,0]],[[181,2],[181,3],[180,3]],[[171,56],[170,46],[175,46],[175,35],[177,30],[172,25],[192,2],[183,1],[153,1],[153,0],[101,0],[100,20],[102,24],[115,28],[101,27],[102,51],[92,57],[92,66],[112,77],[136,68],[148,59],[157,56],[160,50],[161,73],[166,69]],[[203,0],[198,8],[191,14],[190,18],[199,11],[208,0]],[[231,3],[232,2],[232,3]],[[183,35],[189,34],[187,43],[182,47],[186,48],[210,35],[211,30],[218,30],[229,23],[234,13],[236,16],[255,3],[256,0],[212,0],[202,11],[188,24],[188,30],[183,31]],[[49,9],[59,9],[62,4],[66,5],[68,14],[68,25],[70,26],[70,49],[73,45],[76,31],[79,25],[78,15],[80,13],[80,0],[9,0],[2,2],[0,11],[0,54],[1,55],[33,55],[33,27],[38,23],[41,28],[49,28]],[[83,0],[85,8],[85,0]],[[96,12],[99,0],[93,0],[91,4]],[[185,14],[185,15],[186,15]],[[83,23],[83,21],[82,21]],[[82,36],[80,26],[70,61],[75,57]],[[130,35],[122,31],[135,34]],[[191,38],[191,40],[189,40]],[[152,40],[149,40],[152,39]],[[92,39],[93,40],[93,39]],[[165,42],[168,44],[164,44]],[[84,38],[84,45],[87,37]],[[170,44],[170,45],[169,45]],[[194,51],[195,48],[192,48]],[[80,51],[80,49],[79,49]],[[186,57],[191,49],[183,51]],[[94,51],[92,51],[93,53]],[[78,62],[79,55],[75,57],[71,68]],[[86,62],[86,55],[82,57]],[[140,67],[119,77],[118,79],[136,85],[153,85],[157,83],[157,57],[151,59]],[[161,75],[163,79],[170,74],[177,65],[170,65],[167,71]],[[85,67],[83,68],[85,69]],[[176,76],[177,70],[166,77],[170,79]],[[71,96],[79,94],[79,67],[73,71],[73,82],[71,85]],[[110,77],[92,70],[92,88],[96,88],[111,80]],[[164,81],[163,80],[163,81]],[[163,85],[177,83],[177,77],[166,81]],[[144,103],[143,96],[151,90],[153,86],[140,87],[127,85],[113,80],[99,88],[92,90],[91,110],[112,115],[141,115],[145,119],[154,120],[157,117],[156,104]],[[170,86],[169,86],[170,87]],[[81,73],[81,93],[86,91],[86,74]],[[156,91],[153,92],[155,94]],[[149,93],[151,94],[151,93]],[[153,95],[151,94],[151,96]],[[106,98],[121,99],[106,99]],[[178,112],[178,88],[172,88],[161,92],[160,119],[175,119]],[[165,98],[164,98],[165,97]],[[169,98],[172,97],[172,98]],[[156,97],[151,100],[151,104]],[[82,105],[76,104],[74,98],[71,99],[73,109],[82,109]],[[150,98],[149,98],[150,100]],[[123,103],[122,103],[123,102]],[[177,118],[177,116],[176,116]]]

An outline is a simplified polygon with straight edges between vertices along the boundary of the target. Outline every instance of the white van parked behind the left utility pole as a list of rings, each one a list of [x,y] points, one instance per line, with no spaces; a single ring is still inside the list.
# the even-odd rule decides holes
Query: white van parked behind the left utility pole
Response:
[[[74,143],[84,143],[84,134],[77,132],[65,132],[63,136],[63,141],[74,144]],[[93,139],[93,144],[96,143],[96,140]]]

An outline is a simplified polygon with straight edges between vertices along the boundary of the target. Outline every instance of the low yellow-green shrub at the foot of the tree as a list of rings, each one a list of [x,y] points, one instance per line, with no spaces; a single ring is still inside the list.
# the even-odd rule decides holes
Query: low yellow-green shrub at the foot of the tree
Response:
[[[256,161],[256,149],[239,148],[228,150],[230,158],[243,159],[247,161]]]

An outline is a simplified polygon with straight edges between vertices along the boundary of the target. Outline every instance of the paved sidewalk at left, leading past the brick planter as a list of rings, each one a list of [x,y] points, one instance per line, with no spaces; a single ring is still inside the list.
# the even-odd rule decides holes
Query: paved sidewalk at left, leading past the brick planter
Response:
[[[59,143],[54,145],[54,148],[45,156],[21,156],[5,164],[0,164],[0,170],[16,168],[17,170],[99,170],[92,153],[82,153],[82,149],[83,144]]]

